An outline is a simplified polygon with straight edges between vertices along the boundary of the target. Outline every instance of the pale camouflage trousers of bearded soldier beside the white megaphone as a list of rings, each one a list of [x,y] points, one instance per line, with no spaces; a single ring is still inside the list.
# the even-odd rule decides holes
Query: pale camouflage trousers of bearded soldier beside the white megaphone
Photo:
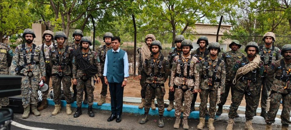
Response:
[[[39,76],[22,76],[21,79],[21,94],[22,105],[30,105],[38,103],[38,82]]]

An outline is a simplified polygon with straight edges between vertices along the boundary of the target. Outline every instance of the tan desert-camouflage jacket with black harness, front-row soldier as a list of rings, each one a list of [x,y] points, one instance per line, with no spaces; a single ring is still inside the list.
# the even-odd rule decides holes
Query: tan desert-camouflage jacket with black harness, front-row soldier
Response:
[[[182,62],[184,64],[183,75],[187,77],[187,66],[188,61],[191,58],[191,55],[189,55],[188,57],[184,57],[183,54],[180,55],[182,58]],[[175,56],[175,58],[173,59],[173,63],[174,64],[171,73],[170,86],[174,86],[174,84],[177,86],[183,86],[185,83],[185,85],[187,85],[189,88],[198,89],[199,88],[199,72],[197,69],[198,59],[195,56],[192,56],[190,62],[189,76],[194,76],[195,77],[194,79],[175,76],[176,74],[181,74],[179,55]]]

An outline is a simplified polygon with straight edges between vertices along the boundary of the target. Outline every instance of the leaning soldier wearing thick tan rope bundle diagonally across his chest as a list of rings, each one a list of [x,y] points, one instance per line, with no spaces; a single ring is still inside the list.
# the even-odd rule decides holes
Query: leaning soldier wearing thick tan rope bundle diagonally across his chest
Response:
[[[254,57],[258,53],[259,48],[256,42],[249,42],[246,45],[245,52],[247,53],[247,57],[239,59],[236,64],[232,68],[232,77],[235,77],[236,72],[239,68],[249,64],[253,61]],[[243,96],[246,99],[246,130],[253,130],[252,120],[254,117],[254,108],[256,107],[256,96],[259,93],[258,88],[261,87],[261,75],[263,74],[263,62],[259,63],[259,67],[254,70],[249,70],[245,75],[241,77],[236,77],[236,86],[233,89],[233,95],[231,98],[232,104],[229,108],[228,113],[228,125],[226,130],[232,130],[232,125],[234,124],[233,118],[236,117],[236,111],[239,108],[240,103],[243,100]]]

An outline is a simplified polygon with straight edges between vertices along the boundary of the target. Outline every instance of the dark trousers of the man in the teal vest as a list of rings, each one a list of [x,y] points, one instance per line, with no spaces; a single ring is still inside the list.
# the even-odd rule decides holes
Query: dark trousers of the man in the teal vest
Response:
[[[114,115],[122,114],[123,89],[122,83],[108,83],[111,96],[111,113]]]

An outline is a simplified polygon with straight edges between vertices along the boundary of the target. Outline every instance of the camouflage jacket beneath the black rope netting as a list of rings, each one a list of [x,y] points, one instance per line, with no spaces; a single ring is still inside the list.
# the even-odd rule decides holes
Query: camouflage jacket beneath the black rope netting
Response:
[[[82,52],[83,54],[83,57],[86,58],[87,60],[89,60],[90,62],[90,65],[95,65],[97,68],[98,68],[98,77],[101,77],[101,67],[100,67],[100,60],[99,60],[99,57],[97,55],[97,52],[94,52],[94,51],[91,51],[89,49],[89,52],[87,53],[84,53]],[[87,56],[86,56],[87,55]],[[73,73],[73,79],[74,78],[81,78],[84,74],[84,72],[79,69],[79,65],[78,65],[78,62],[76,62],[75,60],[75,56],[73,57],[73,69],[72,69],[72,73]]]

